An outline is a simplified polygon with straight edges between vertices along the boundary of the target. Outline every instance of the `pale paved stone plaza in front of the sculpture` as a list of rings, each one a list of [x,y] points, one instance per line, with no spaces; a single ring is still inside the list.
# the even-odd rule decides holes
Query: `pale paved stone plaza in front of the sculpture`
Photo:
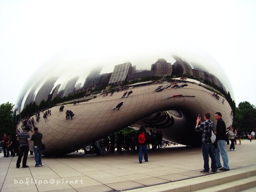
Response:
[[[255,164],[256,141],[242,140],[237,151],[227,151],[230,171]],[[226,145],[227,150],[229,145]],[[34,156],[29,155],[29,168],[16,168],[17,157],[0,154],[0,191],[120,191],[145,189],[193,177],[204,177],[201,148],[176,145],[149,152],[149,162],[138,161],[137,152],[107,155],[71,153],[62,157],[43,157],[44,166],[34,167]],[[220,171],[215,175],[218,176]],[[52,183],[51,183],[52,182]],[[152,189],[151,189],[152,190]]]

